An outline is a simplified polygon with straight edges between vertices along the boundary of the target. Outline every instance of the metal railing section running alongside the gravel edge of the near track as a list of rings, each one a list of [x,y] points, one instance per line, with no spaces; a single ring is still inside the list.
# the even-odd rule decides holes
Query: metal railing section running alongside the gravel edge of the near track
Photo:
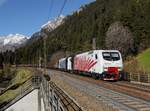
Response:
[[[55,83],[42,79],[40,86],[41,97],[44,101],[45,111],[82,111],[81,107],[58,88]],[[41,106],[39,106],[41,111]]]

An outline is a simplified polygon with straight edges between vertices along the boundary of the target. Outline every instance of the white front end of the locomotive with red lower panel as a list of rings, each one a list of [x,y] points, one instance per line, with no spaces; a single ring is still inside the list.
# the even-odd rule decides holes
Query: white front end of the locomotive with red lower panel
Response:
[[[119,74],[123,69],[122,57],[119,51],[103,51],[103,72],[104,80],[118,80]]]

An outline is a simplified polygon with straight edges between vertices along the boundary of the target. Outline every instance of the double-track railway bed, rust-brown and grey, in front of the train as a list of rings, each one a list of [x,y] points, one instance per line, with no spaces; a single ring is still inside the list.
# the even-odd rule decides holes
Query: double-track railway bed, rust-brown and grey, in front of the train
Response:
[[[150,111],[150,92],[145,87],[136,86],[123,82],[104,82],[88,77],[71,75],[60,72],[64,76],[62,80],[67,81],[89,95],[103,101],[119,111]]]

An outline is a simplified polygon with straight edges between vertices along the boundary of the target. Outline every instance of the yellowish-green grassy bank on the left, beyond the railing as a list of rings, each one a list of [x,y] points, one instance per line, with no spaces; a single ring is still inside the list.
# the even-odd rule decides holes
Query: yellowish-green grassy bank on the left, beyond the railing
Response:
[[[0,103],[7,102],[16,97],[21,91],[21,85],[27,81],[33,73],[34,72],[31,69],[17,69],[15,77],[10,81],[10,85],[5,89],[6,92],[0,95]]]

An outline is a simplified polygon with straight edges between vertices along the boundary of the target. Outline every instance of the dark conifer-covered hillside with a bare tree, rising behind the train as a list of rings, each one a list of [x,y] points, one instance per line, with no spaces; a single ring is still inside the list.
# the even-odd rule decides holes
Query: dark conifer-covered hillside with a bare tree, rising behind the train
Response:
[[[47,60],[57,51],[70,54],[92,49],[118,49],[123,57],[150,47],[149,0],[97,0],[65,17],[55,30],[44,31]],[[17,50],[17,63],[38,63],[43,57],[43,39]]]

